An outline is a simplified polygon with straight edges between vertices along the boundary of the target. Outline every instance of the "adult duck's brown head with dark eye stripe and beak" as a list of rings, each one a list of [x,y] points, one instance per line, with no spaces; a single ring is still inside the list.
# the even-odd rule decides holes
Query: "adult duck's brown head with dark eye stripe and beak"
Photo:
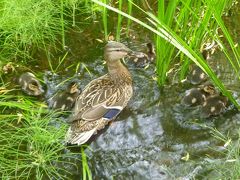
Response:
[[[118,61],[130,53],[131,49],[116,41],[109,41],[104,48],[104,58],[107,62]]]

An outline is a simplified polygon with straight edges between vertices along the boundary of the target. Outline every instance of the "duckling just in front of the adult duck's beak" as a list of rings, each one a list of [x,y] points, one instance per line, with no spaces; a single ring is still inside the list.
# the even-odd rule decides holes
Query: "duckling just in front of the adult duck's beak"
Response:
[[[146,53],[134,52],[133,62],[135,63],[136,67],[145,68],[150,63],[154,62],[154,60],[156,58],[154,45],[149,42],[149,43],[146,44],[146,47],[147,47],[147,52]]]

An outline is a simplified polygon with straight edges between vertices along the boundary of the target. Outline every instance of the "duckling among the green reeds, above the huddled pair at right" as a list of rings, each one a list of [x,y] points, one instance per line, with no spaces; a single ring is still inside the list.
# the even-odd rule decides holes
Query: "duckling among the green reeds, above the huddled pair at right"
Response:
[[[203,70],[197,65],[192,65],[191,72],[188,75],[187,79],[191,84],[200,84],[207,79],[207,75],[203,72]]]

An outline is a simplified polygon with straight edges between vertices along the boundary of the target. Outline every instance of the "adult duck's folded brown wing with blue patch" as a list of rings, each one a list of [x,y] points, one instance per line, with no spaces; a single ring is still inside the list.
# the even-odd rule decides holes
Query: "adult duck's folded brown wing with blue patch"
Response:
[[[91,81],[77,98],[73,116],[68,122],[115,119],[131,96],[131,84],[116,86],[108,75],[102,76]]]

